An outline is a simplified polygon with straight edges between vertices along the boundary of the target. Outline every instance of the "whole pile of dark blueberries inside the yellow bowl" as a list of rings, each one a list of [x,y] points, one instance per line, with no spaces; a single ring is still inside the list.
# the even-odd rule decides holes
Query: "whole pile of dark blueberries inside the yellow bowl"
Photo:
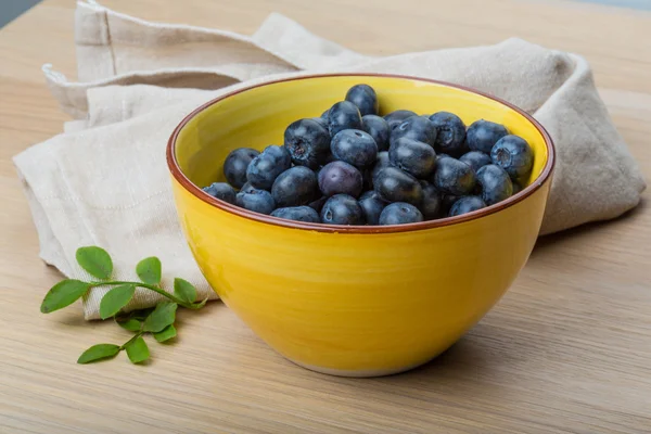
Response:
[[[373,88],[357,85],[321,117],[291,124],[283,145],[232,151],[228,183],[203,190],[290,220],[401,225],[503,201],[520,191],[533,159],[524,139],[492,122],[467,129],[452,113],[408,110],[380,117]]]

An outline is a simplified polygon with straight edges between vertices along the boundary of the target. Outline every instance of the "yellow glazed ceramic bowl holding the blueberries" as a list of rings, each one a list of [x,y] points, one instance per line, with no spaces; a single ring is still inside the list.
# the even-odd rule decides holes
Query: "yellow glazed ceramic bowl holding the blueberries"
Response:
[[[251,213],[203,193],[224,181],[237,148],[282,144],[292,122],[319,116],[356,84],[382,114],[449,111],[467,125],[506,125],[534,149],[528,187],[463,216],[385,227],[303,224]],[[521,110],[424,79],[310,76],[239,90],[191,113],[167,150],[180,221],[204,276],[271,347],[320,372],[368,376],[436,357],[501,297],[527,260],[551,183],[553,146]]]

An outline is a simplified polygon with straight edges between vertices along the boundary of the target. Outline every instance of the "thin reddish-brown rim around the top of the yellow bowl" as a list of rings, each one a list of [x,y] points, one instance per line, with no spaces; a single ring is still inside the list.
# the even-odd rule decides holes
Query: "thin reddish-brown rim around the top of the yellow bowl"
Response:
[[[305,79],[314,79],[314,78],[332,78],[332,77],[383,77],[383,78],[407,79],[407,80],[422,81],[422,82],[427,82],[427,84],[434,84],[434,85],[456,88],[459,90],[478,94],[484,98],[488,98],[493,101],[496,101],[496,102],[498,102],[502,105],[506,105],[507,107],[515,111],[516,113],[522,115],[524,118],[526,118],[538,130],[538,132],[540,132],[540,135],[542,136],[542,139],[545,140],[545,145],[547,146],[547,162],[545,164],[545,167],[542,168],[542,171],[540,173],[540,175],[525,189],[522,189],[520,192],[518,192],[516,194],[513,194],[512,196],[510,196],[509,199],[507,199],[505,201],[498,202],[494,205],[486,206],[485,208],[477,209],[477,210],[462,214],[460,216],[455,216],[455,217],[444,217],[444,218],[439,218],[439,219],[435,219],[435,220],[426,220],[426,221],[419,221],[419,222],[405,224],[405,225],[386,225],[386,226],[344,226],[344,225],[311,224],[311,222],[305,222],[305,221],[288,220],[288,219],[283,219],[280,217],[272,217],[270,215],[254,213],[248,209],[241,208],[237,205],[230,204],[226,201],[221,201],[219,199],[210,196],[209,194],[204,192],[199,186],[194,184],[183,174],[183,171],[179,167],[178,161],[176,158],[176,153],[174,151],[176,150],[176,143],[177,143],[177,139],[178,139],[180,131],[193,117],[195,117],[199,113],[203,112],[204,110],[208,108],[209,106],[218,103],[219,101],[226,100],[227,98],[237,95],[238,93],[242,93],[247,90],[264,87],[264,86],[276,85],[276,84],[284,82],[284,81],[295,81],[295,80],[305,80]],[[276,80],[271,80],[271,81],[265,81],[263,84],[256,84],[256,85],[246,86],[244,88],[233,90],[231,92],[228,92],[226,94],[217,97],[217,98],[200,105],[199,107],[193,110],[190,114],[188,114],[177,125],[177,127],[171,132],[171,135],[167,141],[166,156],[167,156],[167,167],[168,167],[169,171],[171,173],[171,175],[174,176],[174,178],[189,193],[191,193],[196,199],[199,199],[216,208],[219,208],[227,213],[237,215],[239,217],[244,217],[244,218],[257,221],[257,222],[280,226],[280,227],[284,227],[288,229],[302,229],[302,230],[327,232],[327,233],[360,233],[360,234],[361,233],[411,232],[411,231],[442,228],[442,227],[457,225],[457,224],[465,222],[469,220],[475,220],[475,219],[478,219],[482,217],[493,215],[505,208],[511,207],[511,206],[524,201],[526,197],[533,195],[536,191],[538,191],[542,187],[542,184],[545,184],[545,182],[550,180],[551,174],[553,171],[553,167],[556,165],[556,150],[554,150],[554,144],[553,144],[553,141],[551,140],[551,137],[549,136],[547,130],[532,115],[526,113],[524,110],[522,110],[500,98],[490,95],[483,91],[475,90],[475,89],[472,89],[472,88],[469,88],[465,86],[455,85],[451,82],[435,80],[435,79],[431,79],[431,78],[409,76],[409,75],[378,74],[378,73],[308,74],[308,75],[280,78],[280,79],[276,79]]]

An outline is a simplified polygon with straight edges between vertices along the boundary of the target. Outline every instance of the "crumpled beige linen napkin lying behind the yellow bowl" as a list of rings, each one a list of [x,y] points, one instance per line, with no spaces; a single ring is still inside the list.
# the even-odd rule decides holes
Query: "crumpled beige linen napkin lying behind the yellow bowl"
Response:
[[[178,122],[202,102],[282,76],[413,75],[473,87],[532,113],[558,150],[541,234],[617,217],[638,204],[646,188],[586,61],[520,39],[370,58],[278,14],[246,37],[148,23],[81,2],[76,43],[79,82],[43,67],[53,95],[76,120],[14,158],[41,257],[66,276],[85,276],[74,252],[97,244],[113,255],[119,279],[133,278],[139,259],[157,255],[167,281],[183,277],[201,298],[216,298],[177,221],[165,144]],[[85,299],[87,319],[99,317],[105,291],[93,289]],[[139,291],[128,308],[151,306],[158,297]]]

